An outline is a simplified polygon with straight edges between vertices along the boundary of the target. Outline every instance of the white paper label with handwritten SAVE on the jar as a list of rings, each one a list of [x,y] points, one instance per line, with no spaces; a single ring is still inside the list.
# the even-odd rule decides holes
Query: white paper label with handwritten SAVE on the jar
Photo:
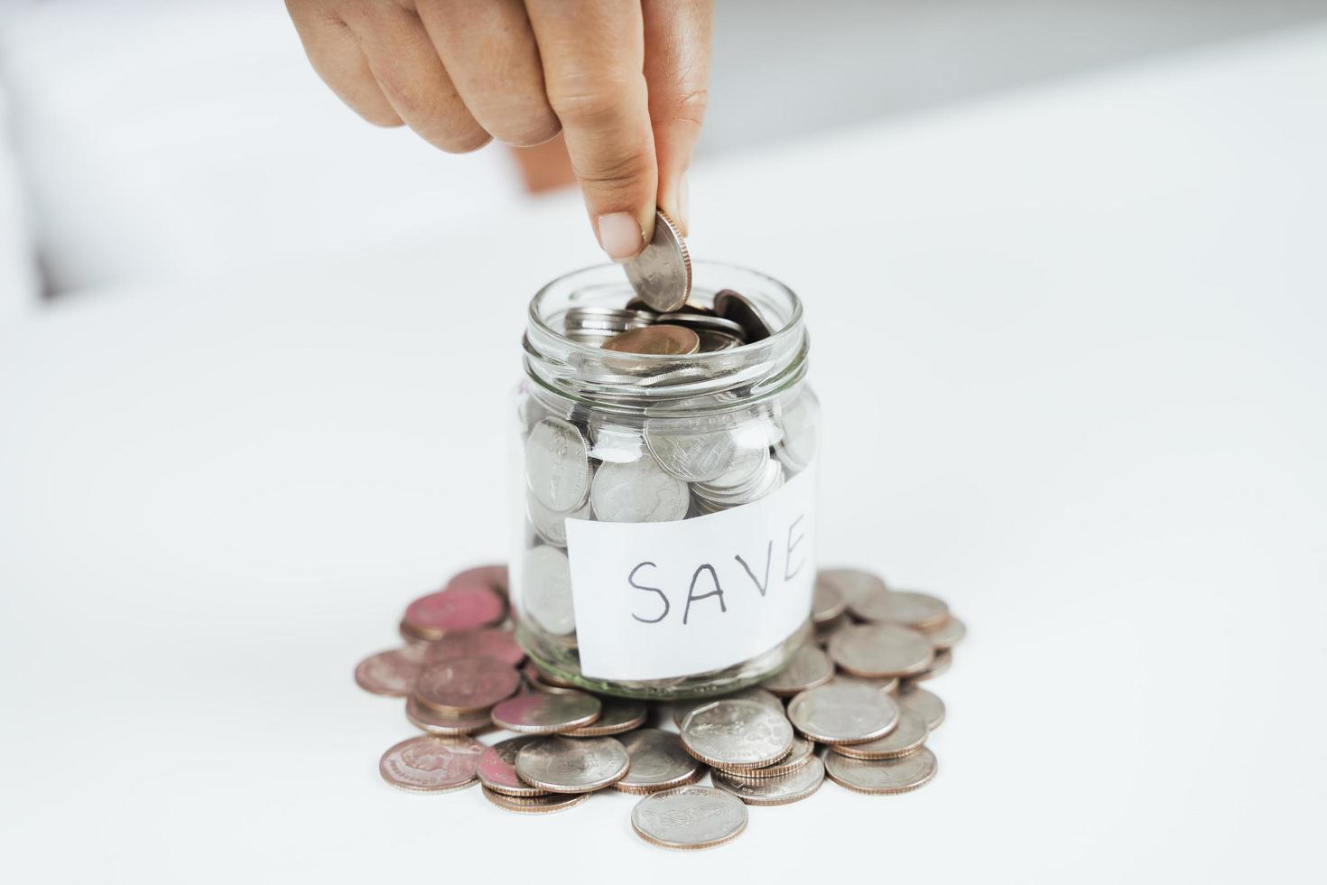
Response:
[[[812,466],[762,500],[695,519],[568,519],[581,673],[706,673],[792,636],[815,584],[813,474]]]

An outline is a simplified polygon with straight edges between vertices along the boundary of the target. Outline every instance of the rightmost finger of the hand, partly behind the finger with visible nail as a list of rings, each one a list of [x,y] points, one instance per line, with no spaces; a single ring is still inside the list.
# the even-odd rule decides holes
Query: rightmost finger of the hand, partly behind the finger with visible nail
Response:
[[[644,0],[645,82],[649,89],[658,204],[687,231],[686,170],[701,134],[710,82],[710,0]]]

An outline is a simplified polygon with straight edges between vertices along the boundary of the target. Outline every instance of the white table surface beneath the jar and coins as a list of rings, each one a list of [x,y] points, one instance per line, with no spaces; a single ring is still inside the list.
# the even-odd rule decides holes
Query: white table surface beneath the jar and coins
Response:
[[[399,793],[413,728],[350,679],[504,556],[524,301],[596,260],[573,196],[5,329],[12,881],[1320,877],[1324,100],[1303,32],[697,170],[694,251],[807,301],[821,561],[970,626],[934,783],[702,854],[625,795]]]

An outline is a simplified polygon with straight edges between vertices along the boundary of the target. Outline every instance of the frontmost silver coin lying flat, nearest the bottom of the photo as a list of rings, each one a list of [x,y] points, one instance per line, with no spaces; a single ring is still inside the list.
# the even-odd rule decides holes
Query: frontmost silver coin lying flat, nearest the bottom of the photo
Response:
[[[715,848],[746,829],[746,804],[711,787],[652,793],[632,809],[632,829],[648,843],[678,851]]]

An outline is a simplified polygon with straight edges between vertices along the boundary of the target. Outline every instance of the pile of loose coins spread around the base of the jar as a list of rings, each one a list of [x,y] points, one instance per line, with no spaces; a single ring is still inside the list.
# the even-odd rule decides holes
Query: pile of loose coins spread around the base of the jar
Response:
[[[406,608],[402,647],[356,669],[362,689],[406,698],[406,718],[423,731],[382,755],[391,785],[479,784],[519,813],[617,789],[642,796],[632,811],[641,839],[699,849],[740,835],[747,805],[805,799],[825,778],[885,795],[936,776],[925,743],[945,705],[920,683],[949,669],[966,628],[933,596],[889,589],[869,572],[823,571],[816,641],[782,671],[742,691],[649,705],[581,690],[525,661],[506,590],[500,565],[456,575]],[[491,743],[475,736],[491,732]]]

